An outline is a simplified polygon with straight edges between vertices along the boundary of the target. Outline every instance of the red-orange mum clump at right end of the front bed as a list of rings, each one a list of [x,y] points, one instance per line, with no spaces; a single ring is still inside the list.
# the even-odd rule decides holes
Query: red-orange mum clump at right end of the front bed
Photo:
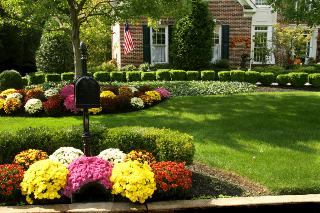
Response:
[[[158,162],[151,165],[155,174],[157,191],[161,194],[181,194],[192,186],[190,170],[184,166],[186,162]]]

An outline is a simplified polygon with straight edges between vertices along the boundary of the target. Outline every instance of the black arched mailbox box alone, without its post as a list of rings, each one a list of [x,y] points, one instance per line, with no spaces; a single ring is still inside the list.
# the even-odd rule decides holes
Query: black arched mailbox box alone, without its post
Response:
[[[98,82],[88,76],[80,76],[75,82],[76,108],[99,108],[100,87]]]

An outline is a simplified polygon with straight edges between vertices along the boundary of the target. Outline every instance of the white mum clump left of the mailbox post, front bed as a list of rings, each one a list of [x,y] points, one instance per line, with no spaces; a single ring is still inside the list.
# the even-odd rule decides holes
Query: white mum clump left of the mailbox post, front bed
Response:
[[[58,161],[60,164],[68,166],[70,163],[82,156],[84,156],[84,154],[80,149],[73,147],[60,147],[54,151],[51,156],[49,156],[49,159]]]

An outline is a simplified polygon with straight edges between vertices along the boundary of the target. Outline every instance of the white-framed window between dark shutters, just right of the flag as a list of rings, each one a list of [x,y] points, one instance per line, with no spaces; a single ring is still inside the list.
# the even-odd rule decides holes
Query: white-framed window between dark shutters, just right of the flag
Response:
[[[168,62],[168,26],[150,27],[151,63]]]

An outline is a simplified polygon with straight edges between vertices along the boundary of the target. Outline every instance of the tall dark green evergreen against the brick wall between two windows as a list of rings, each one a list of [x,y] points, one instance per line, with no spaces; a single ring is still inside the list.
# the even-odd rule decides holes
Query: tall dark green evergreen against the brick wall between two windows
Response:
[[[182,70],[209,67],[214,45],[214,27],[208,3],[192,0],[191,13],[177,20],[174,25],[170,52],[173,64]]]

